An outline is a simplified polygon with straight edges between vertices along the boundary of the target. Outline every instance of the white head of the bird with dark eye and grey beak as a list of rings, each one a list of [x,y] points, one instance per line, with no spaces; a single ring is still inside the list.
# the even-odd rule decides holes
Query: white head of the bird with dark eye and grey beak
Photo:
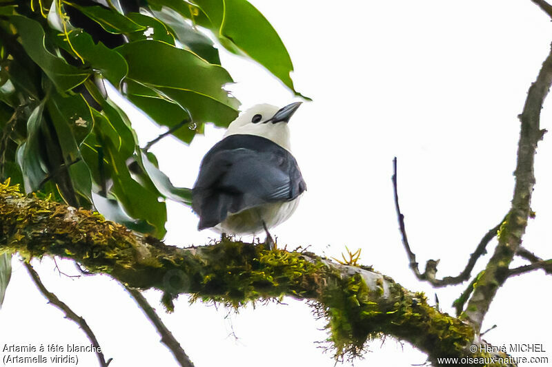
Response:
[[[255,105],[230,123],[224,137],[237,134],[262,136],[290,151],[288,121],[299,105],[301,102],[283,108],[266,103]]]

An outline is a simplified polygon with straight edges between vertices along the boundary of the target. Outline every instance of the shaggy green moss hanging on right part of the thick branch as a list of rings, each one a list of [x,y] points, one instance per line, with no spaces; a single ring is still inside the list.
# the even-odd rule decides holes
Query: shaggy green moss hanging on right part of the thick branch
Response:
[[[423,293],[407,293],[399,284],[386,281],[391,293],[403,294],[400,301],[385,302],[382,286],[369,289],[359,274],[337,279],[324,291],[315,311],[328,319],[328,348],[337,359],[362,355],[367,342],[382,335],[399,337],[440,357],[466,355],[474,336],[471,326],[439,313]]]

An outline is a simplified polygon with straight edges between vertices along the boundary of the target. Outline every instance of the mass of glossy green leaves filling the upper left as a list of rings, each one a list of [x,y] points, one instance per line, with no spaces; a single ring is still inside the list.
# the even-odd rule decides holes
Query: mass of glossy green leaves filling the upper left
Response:
[[[162,238],[164,200],[189,205],[190,190],[139,147],[103,83],[190,143],[206,123],[226,127],[237,116],[213,40],[291,90],[293,65],[246,0],[108,3],[0,2],[0,180]]]

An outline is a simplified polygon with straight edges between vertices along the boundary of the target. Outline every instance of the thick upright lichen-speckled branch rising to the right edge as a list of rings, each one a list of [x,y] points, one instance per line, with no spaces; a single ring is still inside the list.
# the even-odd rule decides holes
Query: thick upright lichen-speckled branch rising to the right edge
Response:
[[[511,209],[499,229],[498,245],[486,265],[480,280],[475,284],[473,295],[463,317],[479,331],[484,316],[498,289],[509,276],[509,265],[520,248],[527,221],[531,216],[531,195],[535,185],[533,164],[539,140],[544,131],[540,129],[540,111],[544,98],[552,85],[552,50],[542,63],[535,83],[529,87],[527,98],[520,114],[521,131],[517,145],[517,166]]]

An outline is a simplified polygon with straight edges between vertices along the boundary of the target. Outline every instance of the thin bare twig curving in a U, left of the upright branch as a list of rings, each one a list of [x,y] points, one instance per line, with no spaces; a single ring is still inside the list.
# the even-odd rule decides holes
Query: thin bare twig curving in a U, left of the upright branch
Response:
[[[473,251],[473,253],[470,255],[468,264],[466,264],[466,268],[459,275],[455,277],[444,277],[443,279],[435,278],[439,260],[428,260],[426,262],[426,269],[424,273],[420,273],[420,269],[418,268],[418,263],[416,262],[416,255],[415,253],[413,253],[413,251],[411,250],[410,244],[408,243],[408,237],[406,235],[406,227],[404,226],[404,215],[402,214],[399,206],[399,194],[397,189],[397,157],[393,158],[393,176],[391,177],[391,180],[393,181],[393,192],[395,194],[395,211],[397,212],[397,220],[399,221],[399,229],[402,237],[402,244],[404,244],[406,255],[408,255],[408,260],[410,261],[410,268],[412,269],[416,277],[419,280],[424,280],[426,282],[429,282],[431,285],[435,287],[460,284],[462,282],[465,282],[466,280],[469,280],[471,271],[473,271],[473,267],[475,266],[475,263],[482,255],[486,253],[487,244],[489,244],[489,242],[491,242],[491,240],[495,238],[498,229],[500,229],[500,225],[502,224],[502,221],[492,229],[489,229],[489,231],[483,236],[479,244],[477,244],[475,251]]]

